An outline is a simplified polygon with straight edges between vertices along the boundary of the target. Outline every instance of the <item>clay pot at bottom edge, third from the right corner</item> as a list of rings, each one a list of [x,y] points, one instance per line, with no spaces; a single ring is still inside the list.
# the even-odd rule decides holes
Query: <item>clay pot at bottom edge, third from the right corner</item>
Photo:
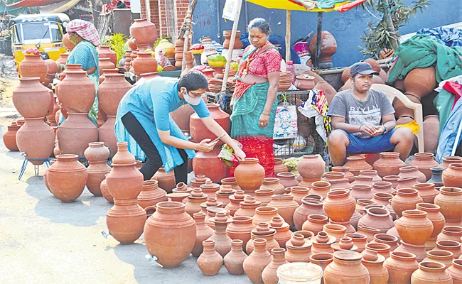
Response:
[[[389,274],[389,283],[411,283],[411,276],[419,268],[413,253],[393,251],[383,263]]]

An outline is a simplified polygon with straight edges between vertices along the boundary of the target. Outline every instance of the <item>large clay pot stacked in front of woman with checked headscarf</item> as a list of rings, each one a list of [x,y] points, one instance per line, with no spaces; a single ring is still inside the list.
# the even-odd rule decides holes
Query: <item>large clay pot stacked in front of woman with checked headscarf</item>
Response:
[[[57,95],[68,113],[88,113],[95,102],[95,84],[85,71],[67,71]]]

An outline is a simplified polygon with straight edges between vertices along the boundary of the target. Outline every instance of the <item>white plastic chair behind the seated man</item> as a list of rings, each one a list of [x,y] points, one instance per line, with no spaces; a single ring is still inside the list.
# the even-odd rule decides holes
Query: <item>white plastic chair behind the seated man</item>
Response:
[[[417,145],[419,148],[419,153],[424,153],[424,114],[422,111],[422,105],[411,102],[402,92],[399,92],[398,89],[390,87],[386,84],[372,84],[372,89],[376,91],[384,92],[387,95],[390,102],[393,102],[394,98],[399,99],[404,107],[414,110],[414,118],[419,124],[419,132],[416,133],[417,136]]]

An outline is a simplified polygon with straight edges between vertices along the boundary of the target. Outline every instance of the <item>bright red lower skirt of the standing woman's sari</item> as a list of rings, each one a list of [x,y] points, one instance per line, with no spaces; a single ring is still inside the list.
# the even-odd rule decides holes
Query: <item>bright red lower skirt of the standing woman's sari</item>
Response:
[[[264,168],[265,178],[275,178],[274,175],[274,141],[267,136],[259,137],[241,137],[235,138],[242,144],[242,151],[244,151],[247,158],[257,158],[259,164]],[[234,171],[238,164],[231,168],[231,177],[234,177]]]

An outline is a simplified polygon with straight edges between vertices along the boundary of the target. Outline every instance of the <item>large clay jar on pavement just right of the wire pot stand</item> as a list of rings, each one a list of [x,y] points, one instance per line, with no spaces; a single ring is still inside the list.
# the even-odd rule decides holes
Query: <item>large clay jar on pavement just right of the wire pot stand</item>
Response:
[[[62,202],[73,202],[85,188],[87,169],[77,158],[77,155],[57,155],[56,162],[48,168],[50,192]]]

